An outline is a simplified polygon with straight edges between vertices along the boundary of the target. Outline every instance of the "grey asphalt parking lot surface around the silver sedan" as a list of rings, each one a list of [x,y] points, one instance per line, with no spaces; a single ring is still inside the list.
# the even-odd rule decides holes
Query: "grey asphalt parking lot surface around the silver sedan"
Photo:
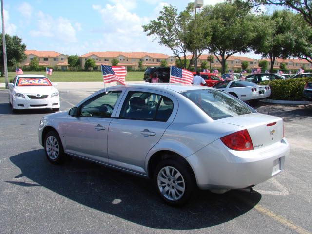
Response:
[[[60,110],[68,110],[102,85],[57,88]],[[291,146],[285,170],[251,193],[197,191],[172,208],[148,179],[78,159],[50,164],[37,136],[49,111],[13,114],[0,90],[0,233],[312,233],[312,105],[251,105],[284,119]]]

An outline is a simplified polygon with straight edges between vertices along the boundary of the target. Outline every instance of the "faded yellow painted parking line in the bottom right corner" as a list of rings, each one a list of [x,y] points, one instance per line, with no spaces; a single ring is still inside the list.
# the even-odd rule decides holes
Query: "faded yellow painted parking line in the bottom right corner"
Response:
[[[259,204],[255,205],[254,209],[257,210],[258,212],[261,212],[264,215],[267,215],[268,217],[272,218],[273,220],[281,223],[285,227],[288,227],[288,228],[296,231],[299,234],[311,234],[311,232],[305,230],[304,228],[301,228],[301,227],[295,225],[294,223],[292,223],[291,221],[287,220],[283,216],[277,215],[277,214],[273,213],[272,211],[264,208],[263,206],[261,206]]]

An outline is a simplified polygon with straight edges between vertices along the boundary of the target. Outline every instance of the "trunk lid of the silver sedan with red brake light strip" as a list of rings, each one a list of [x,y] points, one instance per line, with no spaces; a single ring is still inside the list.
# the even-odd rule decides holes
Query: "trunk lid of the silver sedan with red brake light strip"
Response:
[[[283,138],[283,119],[279,117],[253,113],[216,120],[245,127],[252,139],[254,149],[272,145]]]

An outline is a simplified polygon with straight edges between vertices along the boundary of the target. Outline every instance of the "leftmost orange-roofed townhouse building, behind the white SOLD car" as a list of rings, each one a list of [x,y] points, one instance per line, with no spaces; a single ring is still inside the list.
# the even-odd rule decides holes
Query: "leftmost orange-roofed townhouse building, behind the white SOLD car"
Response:
[[[26,59],[21,63],[21,66],[29,66],[31,60],[35,57],[39,61],[40,67],[58,68],[62,71],[68,70],[68,55],[61,54],[55,51],[38,51],[26,50]]]

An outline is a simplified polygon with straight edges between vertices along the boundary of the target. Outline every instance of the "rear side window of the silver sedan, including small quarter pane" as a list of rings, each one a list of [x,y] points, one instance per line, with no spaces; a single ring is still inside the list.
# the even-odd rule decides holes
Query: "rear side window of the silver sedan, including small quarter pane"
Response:
[[[173,110],[173,102],[158,94],[128,93],[121,108],[121,118],[137,120],[167,121]]]

